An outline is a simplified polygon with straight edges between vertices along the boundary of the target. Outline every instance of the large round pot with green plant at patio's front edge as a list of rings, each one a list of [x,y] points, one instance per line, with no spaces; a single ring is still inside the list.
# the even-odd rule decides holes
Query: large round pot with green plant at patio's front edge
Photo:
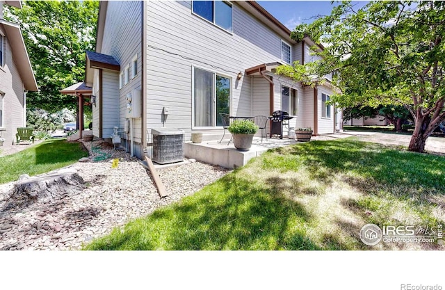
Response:
[[[234,120],[227,128],[234,137],[234,146],[238,150],[249,150],[258,126],[250,120]]]

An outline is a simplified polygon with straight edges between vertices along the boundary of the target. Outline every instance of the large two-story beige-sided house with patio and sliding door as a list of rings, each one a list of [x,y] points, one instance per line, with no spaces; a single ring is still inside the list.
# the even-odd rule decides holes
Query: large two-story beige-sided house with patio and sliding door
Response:
[[[117,126],[141,157],[151,129],[216,139],[221,112],[282,110],[295,117],[290,127],[338,131],[341,110],[326,104],[329,81],[302,87],[274,73],[277,65],[316,58],[312,40],[295,42],[290,33],[254,1],[101,1],[96,49],[86,54],[86,84],[97,99],[93,134],[110,138]],[[140,112],[127,118],[135,106]]]

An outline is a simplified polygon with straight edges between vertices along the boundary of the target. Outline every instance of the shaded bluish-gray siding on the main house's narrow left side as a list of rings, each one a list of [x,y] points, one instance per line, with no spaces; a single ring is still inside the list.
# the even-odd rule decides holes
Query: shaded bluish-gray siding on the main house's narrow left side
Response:
[[[134,89],[140,90],[143,69],[141,65],[142,7],[142,1],[108,1],[104,38],[102,47],[97,52],[113,56],[120,64],[122,72],[124,72],[127,65],[131,68],[132,60],[137,56],[138,74],[133,79],[130,76],[129,82],[120,89],[120,72],[106,72],[104,70],[103,138],[109,138],[113,134],[114,126],[118,126],[120,131],[124,129],[127,110],[126,96]],[[141,143],[142,119],[134,119],[133,124],[133,140],[136,143]],[[125,134],[122,137],[129,138]],[[137,149],[136,147],[138,146],[135,146],[135,150]],[[136,153],[140,155],[139,151]]]

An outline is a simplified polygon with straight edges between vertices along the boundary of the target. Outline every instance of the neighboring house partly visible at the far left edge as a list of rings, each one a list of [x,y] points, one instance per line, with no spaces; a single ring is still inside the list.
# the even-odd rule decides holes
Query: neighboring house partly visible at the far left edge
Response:
[[[20,26],[3,19],[3,5],[22,8],[22,3],[0,0],[0,137],[10,146],[17,127],[26,127],[26,92],[38,87]]]

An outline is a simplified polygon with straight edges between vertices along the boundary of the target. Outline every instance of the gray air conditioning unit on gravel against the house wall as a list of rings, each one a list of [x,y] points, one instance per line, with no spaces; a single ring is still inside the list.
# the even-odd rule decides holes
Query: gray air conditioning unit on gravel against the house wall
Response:
[[[184,131],[152,129],[153,161],[159,164],[184,161]]]

